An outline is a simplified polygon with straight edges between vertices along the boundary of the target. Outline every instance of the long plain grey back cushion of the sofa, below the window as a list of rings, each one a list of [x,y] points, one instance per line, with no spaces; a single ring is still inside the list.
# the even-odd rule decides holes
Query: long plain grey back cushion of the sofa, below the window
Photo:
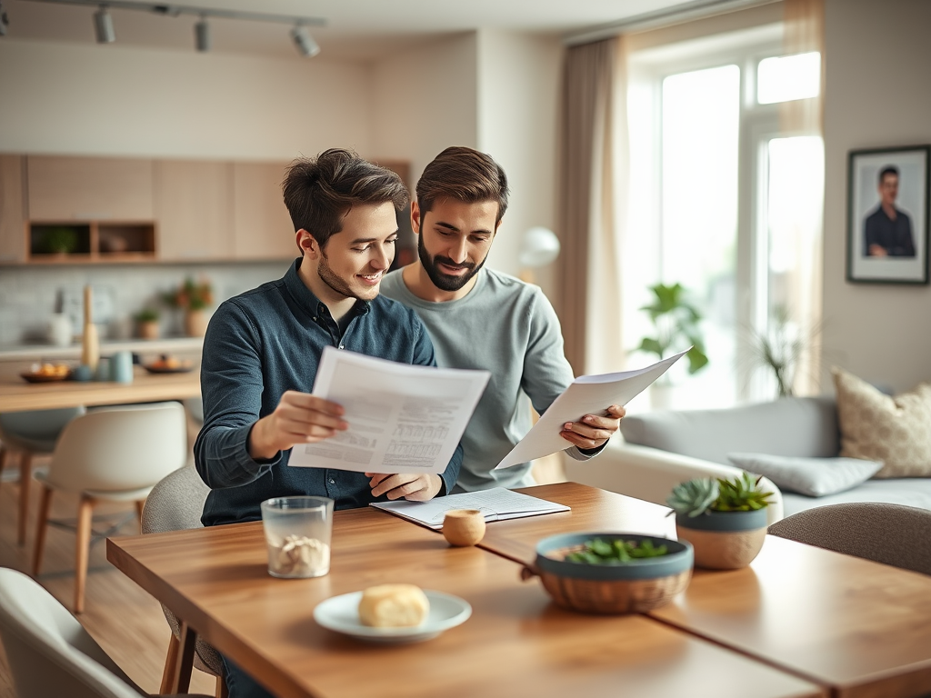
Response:
[[[621,420],[627,443],[729,465],[743,451],[828,458],[840,450],[831,397],[784,397],[730,409],[654,411]]]

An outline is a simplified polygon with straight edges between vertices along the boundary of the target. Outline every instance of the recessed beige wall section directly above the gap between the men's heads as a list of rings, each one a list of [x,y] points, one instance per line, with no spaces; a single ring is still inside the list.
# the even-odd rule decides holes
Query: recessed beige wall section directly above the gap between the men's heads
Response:
[[[476,34],[413,48],[372,69],[375,157],[411,162],[411,184],[450,145],[476,147]]]

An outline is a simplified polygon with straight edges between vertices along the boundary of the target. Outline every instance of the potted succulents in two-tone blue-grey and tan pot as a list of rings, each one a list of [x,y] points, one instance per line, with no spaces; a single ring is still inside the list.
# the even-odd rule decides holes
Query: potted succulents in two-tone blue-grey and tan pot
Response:
[[[676,514],[676,533],[695,548],[695,565],[712,570],[746,567],[766,538],[772,492],[760,477],[697,477],[673,488],[666,503]]]

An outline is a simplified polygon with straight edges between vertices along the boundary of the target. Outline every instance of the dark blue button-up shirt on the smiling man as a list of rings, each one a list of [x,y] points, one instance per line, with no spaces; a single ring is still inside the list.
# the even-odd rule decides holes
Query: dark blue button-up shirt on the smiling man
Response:
[[[356,302],[341,335],[326,305],[298,276],[300,263],[283,278],[223,302],[210,319],[200,372],[204,426],[194,446],[197,472],[211,489],[205,526],[261,519],[260,504],[270,497],[331,497],[337,509],[375,501],[362,473],[291,468],[290,451],[269,462],[249,454],[252,425],[275,410],[282,394],[311,392],[325,346],[436,366],[417,315],[381,296]],[[440,476],[444,491],[452,491],[461,464],[460,446]]]

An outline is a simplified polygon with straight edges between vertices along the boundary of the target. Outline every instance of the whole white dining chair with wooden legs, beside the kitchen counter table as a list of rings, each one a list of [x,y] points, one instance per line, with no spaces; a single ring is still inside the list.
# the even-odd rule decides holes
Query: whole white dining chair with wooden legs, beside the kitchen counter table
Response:
[[[178,402],[160,402],[98,409],[77,417],[64,428],[52,453],[43,484],[35,534],[33,575],[42,565],[52,493],[80,495],[75,543],[74,612],[84,611],[88,577],[91,517],[101,501],[142,503],[162,477],[187,460],[184,409]]]

